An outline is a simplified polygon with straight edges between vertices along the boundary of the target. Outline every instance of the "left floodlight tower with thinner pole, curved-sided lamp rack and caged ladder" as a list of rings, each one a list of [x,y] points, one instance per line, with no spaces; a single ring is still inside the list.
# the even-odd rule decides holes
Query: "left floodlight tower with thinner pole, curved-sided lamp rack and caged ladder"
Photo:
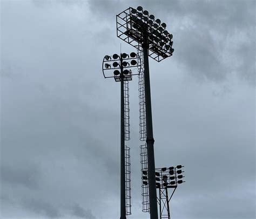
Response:
[[[121,124],[120,124],[120,219],[131,214],[131,163],[130,148],[125,141],[130,140],[129,80],[140,73],[141,61],[137,53],[131,52],[105,56],[102,63],[105,78],[114,78],[121,84]]]

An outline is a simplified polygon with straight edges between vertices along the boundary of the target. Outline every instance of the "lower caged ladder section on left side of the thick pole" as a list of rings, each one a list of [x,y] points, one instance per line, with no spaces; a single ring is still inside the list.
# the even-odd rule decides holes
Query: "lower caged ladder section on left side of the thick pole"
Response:
[[[149,181],[147,179],[147,146],[140,145],[140,166],[142,170],[142,211],[150,212]]]

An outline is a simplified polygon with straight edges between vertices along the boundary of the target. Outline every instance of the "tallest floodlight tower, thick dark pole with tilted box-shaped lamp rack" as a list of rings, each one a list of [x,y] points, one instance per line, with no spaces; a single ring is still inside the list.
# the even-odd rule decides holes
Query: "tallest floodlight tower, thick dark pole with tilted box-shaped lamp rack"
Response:
[[[165,23],[161,23],[160,19],[155,19],[154,15],[149,15],[149,12],[143,10],[142,6],[138,6],[137,9],[128,8],[117,15],[117,37],[143,51],[150,218],[157,219],[149,56],[157,61],[172,56],[174,51],[172,34],[166,30]]]

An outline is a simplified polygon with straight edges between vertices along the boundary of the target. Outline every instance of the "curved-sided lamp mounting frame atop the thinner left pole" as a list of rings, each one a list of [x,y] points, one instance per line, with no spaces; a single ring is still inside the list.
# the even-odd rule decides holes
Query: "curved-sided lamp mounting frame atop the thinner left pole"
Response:
[[[134,55],[134,52],[131,52],[130,56],[132,53]],[[131,56],[131,58],[130,58],[129,54],[126,54],[126,53],[121,53],[120,56],[118,56],[117,54],[113,54],[112,57],[116,57],[113,59],[111,59],[111,56],[108,56],[108,55],[104,56],[103,62],[102,62],[102,71],[103,71],[104,78],[114,78],[114,80],[116,82],[121,81],[121,79],[120,79],[121,74],[117,74],[117,75],[113,74],[114,71],[120,70],[121,67],[123,68],[124,81],[132,80],[132,76],[136,76],[136,75],[140,74],[140,71],[142,69],[142,60],[140,59],[140,56],[138,53],[135,53],[135,54],[136,54],[136,57]],[[125,58],[123,58],[123,57],[125,57]],[[129,63],[134,60],[136,60],[137,64],[132,65]],[[121,61],[123,63],[122,66],[120,66]],[[118,63],[118,66],[114,67],[113,63]],[[124,66],[124,63],[127,63],[129,65]],[[110,66],[110,67],[106,67],[105,65]],[[134,68],[136,68],[137,71],[133,71]],[[126,70],[128,70],[129,73],[125,74]],[[134,72],[136,72],[136,73],[134,73]]]

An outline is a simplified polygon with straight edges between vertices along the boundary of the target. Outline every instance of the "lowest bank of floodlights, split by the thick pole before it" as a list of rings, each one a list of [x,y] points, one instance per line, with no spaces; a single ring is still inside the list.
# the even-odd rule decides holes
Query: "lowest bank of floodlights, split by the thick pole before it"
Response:
[[[184,171],[181,170],[181,165],[178,165],[177,167],[163,167],[160,169],[156,169],[156,187],[166,187],[166,186],[177,186],[177,184],[181,184],[185,181],[181,180],[183,179],[183,173]],[[177,170],[178,169],[178,170]],[[179,174],[179,175],[178,175]],[[143,184],[147,184],[147,171],[143,171]]]

